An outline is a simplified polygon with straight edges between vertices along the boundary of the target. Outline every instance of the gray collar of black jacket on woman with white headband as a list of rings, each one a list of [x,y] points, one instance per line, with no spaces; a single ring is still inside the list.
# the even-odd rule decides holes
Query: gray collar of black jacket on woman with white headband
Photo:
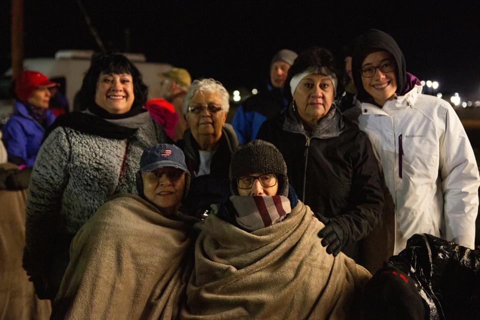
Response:
[[[283,127],[285,131],[301,133],[308,136],[308,133],[303,128],[298,112],[293,110],[292,103],[287,108]],[[316,128],[311,133],[311,137],[327,139],[340,135],[345,129],[345,121],[341,112],[337,112],[335,104],[332,104],[330,110],[320,119]]]

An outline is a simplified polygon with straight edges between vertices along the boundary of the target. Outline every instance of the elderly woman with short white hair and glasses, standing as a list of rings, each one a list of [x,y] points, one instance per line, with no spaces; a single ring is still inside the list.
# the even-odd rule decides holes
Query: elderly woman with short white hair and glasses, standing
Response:
[[[198,217],[208,214],[210,204],[229,194],[228,167],[238,139],[226,124],[228,91],[214,79],[191,83],[183,100],[183,114],[188,128],[177,145],[185,153],[192,181],[185,203]]]

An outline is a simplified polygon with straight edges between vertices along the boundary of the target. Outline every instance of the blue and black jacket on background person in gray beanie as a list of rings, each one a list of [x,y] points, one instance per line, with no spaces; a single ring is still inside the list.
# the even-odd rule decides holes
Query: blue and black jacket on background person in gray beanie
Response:
[[[271,85],[268,85],[267,89],[248,97],[236,109],[231,124],[240,144],[254,140],[265,120],[274,118],[286,110],[288,101],[283,97],[281,89]]]

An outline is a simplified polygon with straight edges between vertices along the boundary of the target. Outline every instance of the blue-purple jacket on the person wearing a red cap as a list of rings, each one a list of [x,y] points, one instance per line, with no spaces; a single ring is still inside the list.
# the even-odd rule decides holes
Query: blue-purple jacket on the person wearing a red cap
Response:
[[[53,112],[46,110],[46,125],[49,126],[54,120]],[[15,101],[15,111],[1,128],[8,161],[19,157],[25,161],[26,166],[33,166],[44,132],[45,129],[30,116],[26,106]]]

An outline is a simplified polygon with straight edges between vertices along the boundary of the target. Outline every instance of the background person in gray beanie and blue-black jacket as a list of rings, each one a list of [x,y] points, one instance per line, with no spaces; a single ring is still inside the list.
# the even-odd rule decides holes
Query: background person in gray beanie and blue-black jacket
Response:
[[[281,87],[296,56],[295,52],[288,49],[276,52],[270,62],[267,90],[248,97],[236,109],[232,125],[240,144],[254,140],[263,121],[285,111],[288,101],[283,97]]]

